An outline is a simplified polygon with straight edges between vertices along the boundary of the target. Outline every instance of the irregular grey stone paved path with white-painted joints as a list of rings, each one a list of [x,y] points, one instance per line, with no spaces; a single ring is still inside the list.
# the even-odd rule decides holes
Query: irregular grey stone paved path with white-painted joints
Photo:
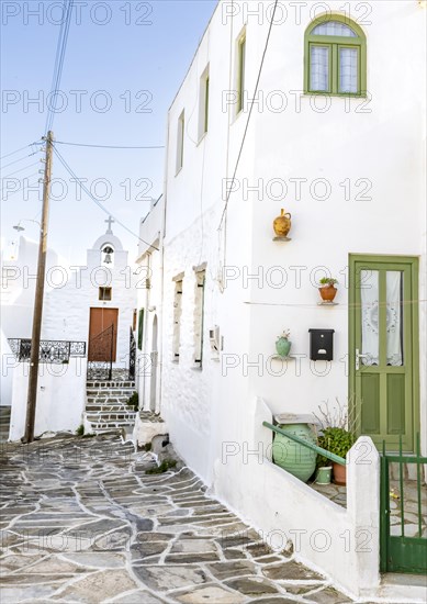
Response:
[[[2,445],[0,466],[2,604],[349,602],[117,436]]]

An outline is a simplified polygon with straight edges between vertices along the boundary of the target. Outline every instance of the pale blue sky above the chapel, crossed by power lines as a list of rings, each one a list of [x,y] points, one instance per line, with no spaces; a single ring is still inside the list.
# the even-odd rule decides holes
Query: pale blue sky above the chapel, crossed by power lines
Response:
[[[44,135],[59,4],[54,0],[1,2],[1,157]],[[164,145],[167,110],[215,5],[216,0],[77,2],[58,100],[64,111],[55,114],[55,138],[102,145]],[[147,198],[161,193],[165,150],[65,145],[58,145],[58,150],[79,178],[88,179],[86,186],[97,199],[137,232],[139,217],[149,205]],[[43,154],[25,158],[30,153],[31,148],[23,149],[1,160],[3,245],[16,239],[14,224],[37,219],[42,208],[37,191],[26,189],[26,199],[21,191],[8,192],[42,177],[30,175],[43,168],[43,164],[31,166]],[[58,180],[50,204],[49,246],[81,264],[86,249],[105,230],[106,215],[70,182],[57,158],[53,176]],[[27,236],[38,237],[35,223],[23,225]],[[134,258],[137,239],[120,226],[114,233]]]

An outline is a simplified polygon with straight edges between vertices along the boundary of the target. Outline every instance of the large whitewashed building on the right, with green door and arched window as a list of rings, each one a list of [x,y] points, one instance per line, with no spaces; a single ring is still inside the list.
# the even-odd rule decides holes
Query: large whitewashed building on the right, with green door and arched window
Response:
[[[396,450],[402,435],[411,456],[420,432],[427,452],[424,4],[279,2],[272,16],[273,2],[220,2],[169,110],[166,217],[154,209],[141,230],[153,221],[148,246],[162,241],[149,304],[175,447],[265,535],[368,600],[408,597],[380,583],[372,440]],[[281,208],[291,241],[274,238]],[[336,305],[318,305],[325,276]],[[284,328],[285,363],[272,358]],[[333,360],[311,358],[313,328],[334,329]],[[369,437],[368,465],[350,456],[347,510],[263,448],[262,421],[336,399]],[[322,530],[333,547],[313,546]],[[340,538],[360,530],[369,552]]]

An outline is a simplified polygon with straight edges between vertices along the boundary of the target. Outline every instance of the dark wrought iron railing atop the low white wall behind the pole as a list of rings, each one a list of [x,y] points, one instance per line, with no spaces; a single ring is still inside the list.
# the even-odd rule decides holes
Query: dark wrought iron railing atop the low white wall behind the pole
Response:
[[[31,339],[8,338],[9,346],[19,361],[31,358]],[[86,342],[63,339],[42,339],[40,343],[40,362],[66,363],[70,357],[86,357]]]

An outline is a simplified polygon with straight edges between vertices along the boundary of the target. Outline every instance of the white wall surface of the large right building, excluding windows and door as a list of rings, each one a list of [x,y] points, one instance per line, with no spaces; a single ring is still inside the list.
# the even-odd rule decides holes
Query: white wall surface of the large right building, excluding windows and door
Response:
[[[236,118],[234,108],[223,108],[223,92],[235,87],[236,40],[245,25],[246,87],[254,90],[269,27],[268,20],[263,15],[260,22],[259,14],[266,3],[235,2],[233,8],[229,2],[220,2],[169,111],[166,178],[162,415],[171,440],[187,462],[228,505],[265,527],[286,522],[280,512],[276,517],[285,492],[283,485],[277,485],[271,468],[251,472],[240,459],[223,463],[222,446],[235,443],[241,449],[250,443],[250,410],[258,398],[269,401],[272,413],[315,412],[319,403],[336,398],[346,402],[349,254],[420,257],[419,299],[426,300],[427,294],[425,154],[424,131],[419,128],[425,123],[425,9],[416,1],[369,4],[371,24],[362,26],[368,40],[371,100],[363,104],[360,99],[332,98],[330,107],[322,111],[322,103],[316,105],[302,93],[304,31],[319,11],[313,14],[312,5],[302,3],[301,19],[296,20],[294,9],[286,2],[281,4],[289,8],[289,18],[272,29],[259,90],[265,99],[279,90],[288,98],[288,105],[282,112],[272,111],[258,98],[236,172],[238,189],[229,199],[225,220],[221,222],[224,179],[233,176],[248,113],[244,111]],[[342,12],[341,2],[328,4]],[[236,12],[234,20],[224,12],[231,7]],[[251,15],[245,7],[254,11]],[[356,11],[356,4],[351,7]],[[359,13],[352,16],[361,18]],[[387,43],[395,40],[400,40],[398,45]],[[207,64],[210,124],[207,134],[199,141],[198,94]],[[398,85],[396,72],[402,72]],[[177,174],[178,119],[182,110],[183,167]],[[288,186],[288,192],[278,192],[277,188],[271,191],[272,179]],[[300,199],[295,179],[302,183]],[[319,199],[322,182],[316,179],[323,179],[328,188],[325,199]],[[349,199],[340,183],[350,186]],[[254,187],[258,191],[250,190]],[[366,199],[361,197],[363,190]],[[272,241],[272,221],[281,208],[292,213],[289,243]],[[193,366],[193,267],[204,261],[205,346],[200,370]],[[277,272],[269,273],[274,267]],[[339,304],[327,309],[317,305],[316,282],[324,270],[340,281]],[[181,272],[181,346],[179,362],[173,362],[173,278]],[[283,287],[277,286],[280,273],[288,279]],[[425,304],[422,306],[423,387],[426,310]],[[209,351],[207,331],[215,324],[224,336],[221,362],[211,360]],[[294,361],[285,374],[277,376],[280,366],[276,361],[270,365],[268,358],[276,351],[277,336],[286,327],[292,332],[292,351],[303,358],[301,365]],[[311,327],[335,329],[330,367],[310,365]],[[425,391],[422,388],[423,428]],[[426,449],[425,439],[423,447]],[[367,477],[362,480],[368,484]],[[286,489],[296,502],[295,484],[286,483]],[[362,514],[367,511],[363,501],[351,503],[356,504]],[[301,510],[304,515],[290,516],[290,523],[302,523],[305,516],[316,514],[313,501],[306,500]],[[347,522],[355,528],[355,517],[346,516]],[[334,538],[339,537],[342,527],[332,523]],[[305,555],[310,560],[312,553],[306,550]],[[312,561],[353,594],[361,593],[363,585],[367,590],[375,583],[378,586],[378,574],[370,574],[363,566],[346,574],[344,559],[335,567],[332,558],[321,562],[312,557]]]

